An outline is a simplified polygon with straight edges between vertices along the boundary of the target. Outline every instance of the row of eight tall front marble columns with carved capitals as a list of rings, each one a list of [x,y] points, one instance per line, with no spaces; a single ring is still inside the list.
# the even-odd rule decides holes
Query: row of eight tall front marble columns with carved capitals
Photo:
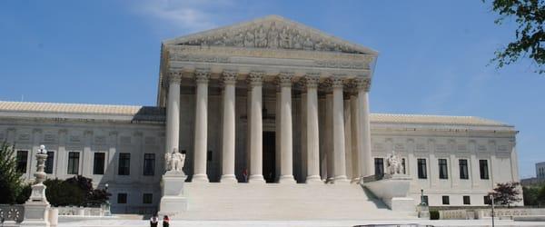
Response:
[[[194,173],[193,182],[207,183],[206,143],[207,143],[207,104],[209,71],[196,70],[195,136],[194,136]],[[234,174],[235,157],[235,85],[237,72],[224,71],[223,82],[223,161],[222,183],[237,183]],[[249,100],[249,183],[265,183],[263,178],[263,72],[251,72],[247,76]],[[291,73],[281,73],[277,77],[280,87],[280,158],[281,169],[279,183],[295,183],[293,177],[293,142],[292,142],[292,78]],[[343,80],[333,76],[327,80],[332,87],[332,163],[334,183],[350,183],[346,176]],[[320,177],[320,134],[318,120],[318,75],[307,75],[302,80],[306,88],[306,183],[321,183]],[[369,80],[356,79],[357,121],[356,135],[360,176],[372,174],[371,131],[369,125]],[[180,77],[169,78],[167,97],[166,151],[172,152],[179,143],[180,118]],[[329,111],[329,110],[328,110]]]

